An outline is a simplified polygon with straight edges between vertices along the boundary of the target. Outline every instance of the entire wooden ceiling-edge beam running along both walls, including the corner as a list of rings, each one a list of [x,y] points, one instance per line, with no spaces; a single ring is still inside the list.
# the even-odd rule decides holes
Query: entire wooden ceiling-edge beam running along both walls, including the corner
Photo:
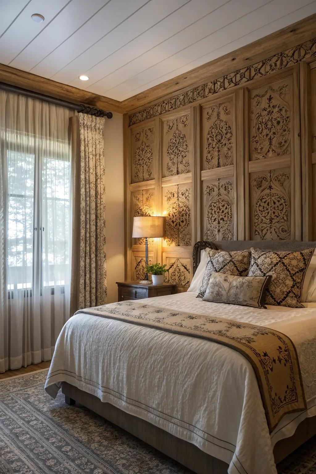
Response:
[[[173,79],[162,82],[122,102],[62,84],[61,82],[52,81],[27,71],[21,71],[5,64],[0,64],[0,82],[6,82],[23,89],[68,100],[69,102],[84,103],[110,112],[135,112],[143,109],[144,106],[172,97],[192,87],[217,79],[224,74],[229,74],[250,64],[255,64],[262,59],[280,53],[280,51],[304,43],[315,36],[316,14],[303,18],[288,27],[264,36],[213,61],[202,64]],[[180,84],[181,87],[179,87]]]

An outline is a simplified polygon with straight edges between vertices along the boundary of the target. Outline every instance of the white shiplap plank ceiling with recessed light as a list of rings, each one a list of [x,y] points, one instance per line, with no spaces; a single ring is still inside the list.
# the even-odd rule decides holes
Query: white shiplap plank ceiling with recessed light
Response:
[[[316,1],[0,0],[0,12],[0,63],[124,100],[316,13]]]

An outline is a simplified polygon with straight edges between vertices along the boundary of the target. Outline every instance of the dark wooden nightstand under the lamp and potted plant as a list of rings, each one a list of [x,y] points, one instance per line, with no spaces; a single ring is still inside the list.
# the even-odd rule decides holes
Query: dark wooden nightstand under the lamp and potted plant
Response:
[[[118,288],[118,301],[141,300],[153,296],[172,295],[176,285],[163,283],[162,285],[144,285],[139,282],[116,282]]]

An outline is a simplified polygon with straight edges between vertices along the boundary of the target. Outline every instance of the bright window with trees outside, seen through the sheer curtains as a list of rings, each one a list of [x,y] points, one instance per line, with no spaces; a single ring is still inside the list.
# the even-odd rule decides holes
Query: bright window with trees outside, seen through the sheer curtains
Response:
[[[8,290],[63,287],[70,280],[68,144],[15,135],[7,141]],[[27,143],[25,143],[27,142]],[[63,288],[61,289],[63,292]],[[31,295],[31,292],[29,293]]]

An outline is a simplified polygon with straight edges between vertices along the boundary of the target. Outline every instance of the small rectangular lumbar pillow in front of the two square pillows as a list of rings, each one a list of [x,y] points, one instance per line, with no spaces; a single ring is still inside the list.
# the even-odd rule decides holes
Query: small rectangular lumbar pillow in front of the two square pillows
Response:
[[[203,300],[266,308],[263,301],[271,278],[271,275],[235,276],[212,273]]]

